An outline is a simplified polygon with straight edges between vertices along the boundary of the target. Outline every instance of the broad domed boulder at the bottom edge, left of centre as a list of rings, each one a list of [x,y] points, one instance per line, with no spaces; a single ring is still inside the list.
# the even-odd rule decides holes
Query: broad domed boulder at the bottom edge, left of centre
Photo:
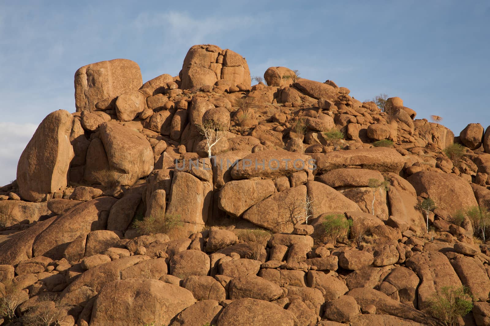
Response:
[[[90,325],[169,325],[195,302],[189,290],[174,284],[148,279],[114,281],[98,294]]]

